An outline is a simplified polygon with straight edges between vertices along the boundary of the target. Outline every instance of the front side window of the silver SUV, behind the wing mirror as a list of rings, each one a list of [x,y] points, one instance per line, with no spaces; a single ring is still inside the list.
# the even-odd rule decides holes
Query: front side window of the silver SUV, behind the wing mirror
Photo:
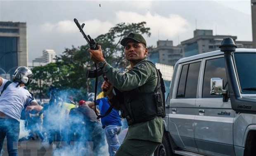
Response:
[[[226,69],[224,58],[210,59],[206,60],[206,65],[204,69],[204,81],[203,81],[203,92],[202,97],[220,97],[218,95],[211,95],[211,78],[223,78],[224,89],[228,89]]]

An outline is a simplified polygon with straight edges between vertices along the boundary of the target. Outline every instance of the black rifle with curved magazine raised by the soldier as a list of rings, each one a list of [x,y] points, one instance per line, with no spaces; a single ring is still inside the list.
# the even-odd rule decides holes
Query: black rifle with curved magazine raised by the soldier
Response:
[[[82,25],[79,24],[77,19],[74,19],[74,22],[76,23],[76,26],[80,30],[80,32],[83,34],[83,38],[87,41],[88,45],[92,50],[97,50],[98,49],[98,43],[90,37],[90,35],[86,35],[85,32],[83,31],[83,27],[85,24],[83,23]],[[103,54],[103,57],[105,59],[105,56]],[[96,63],[95,63],[96,69],[94,70],[87,70],[86,71],[86,77],[88,78],[97,78],[102,75],[102,70],[100,68],[97,68]]]

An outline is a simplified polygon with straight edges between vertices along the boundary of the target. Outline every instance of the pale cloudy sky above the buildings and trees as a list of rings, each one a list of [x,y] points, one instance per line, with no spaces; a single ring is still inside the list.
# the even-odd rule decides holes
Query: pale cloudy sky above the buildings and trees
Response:
[[[144,37],[153,46],[157,40],[178,45],[195,29],[252,41],[251,0],[0,0],[0,21],[26,22],[29,62],[45,49],[59,55],[85,45],[74,18],[92,38],[121,22],[146,21],[152,35]]]

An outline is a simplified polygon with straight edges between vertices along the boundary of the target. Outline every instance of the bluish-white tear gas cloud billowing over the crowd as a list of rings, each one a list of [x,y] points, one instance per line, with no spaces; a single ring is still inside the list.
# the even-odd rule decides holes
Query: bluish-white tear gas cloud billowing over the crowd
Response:
[[[76,111],[79,101],[76,90],[51,92],[52,99],[43,105],[43,131],[45,142],[53,149],[53,156],[106,156],[108,145],[102,124],[87,123],[83,114]],[[71,98],[72,96],[72,98]]]

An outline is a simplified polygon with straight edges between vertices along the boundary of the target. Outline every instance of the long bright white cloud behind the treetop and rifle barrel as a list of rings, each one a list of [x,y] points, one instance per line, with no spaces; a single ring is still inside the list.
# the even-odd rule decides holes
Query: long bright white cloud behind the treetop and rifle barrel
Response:
[[[91,19],[88,21],[79,21],[79,23],[85,23],[85,27],[83,28],[85,34],[95,38],[100,34],[107,33],[111,27],[114,27],[118,23],[138,23],[142,21],[146,21],[146,26],[150,28],[152,35],[147,41],[152,45],[156,43],[156,40],[174,40],[179,34],[191,29],[188,21],[178,14],[169,14],[167,17],[164,17],[150,12],[140,14],[136,12],[118,11],[115,12],[114,20],[111,21]],[[76,24],[71,20],[44,23],[40,26],[40,31],[45,36],[55,35],[64,37],[66,40],[81,35],[79,34]],[[159,36],[161,36],[161,38],[159,38]]]

